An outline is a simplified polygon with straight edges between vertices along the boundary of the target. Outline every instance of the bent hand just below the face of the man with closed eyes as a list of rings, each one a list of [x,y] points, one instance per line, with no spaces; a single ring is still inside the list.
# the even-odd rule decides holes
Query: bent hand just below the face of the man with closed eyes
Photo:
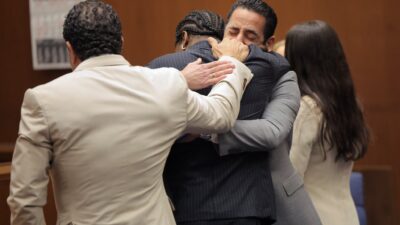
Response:
[[[231,56],[243,62],[249,55],[249,47],[235,39],[224,38],[220,43],[212,37],[208,38],[212,47],[214,57],[220,58],[223,55]]]

